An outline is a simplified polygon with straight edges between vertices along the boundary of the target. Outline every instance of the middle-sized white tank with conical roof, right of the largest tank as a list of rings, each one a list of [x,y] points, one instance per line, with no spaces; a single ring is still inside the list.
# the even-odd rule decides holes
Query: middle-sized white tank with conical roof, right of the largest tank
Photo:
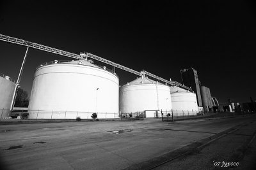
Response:
[[[170,87],[141,76],[120,88],[121,113],[172,110]],[[147,113],[146,113],[147,114]],[[160,114],[159,114],[160,116]],[[157,117],[149,113],[147,117]]]

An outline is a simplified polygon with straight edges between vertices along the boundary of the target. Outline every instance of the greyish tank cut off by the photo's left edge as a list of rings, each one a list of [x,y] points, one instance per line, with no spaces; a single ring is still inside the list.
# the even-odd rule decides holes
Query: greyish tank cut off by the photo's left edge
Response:
[[[14,81],[0,74],[0,117],[5,118],[10,116],[12,98],[15,90]]]

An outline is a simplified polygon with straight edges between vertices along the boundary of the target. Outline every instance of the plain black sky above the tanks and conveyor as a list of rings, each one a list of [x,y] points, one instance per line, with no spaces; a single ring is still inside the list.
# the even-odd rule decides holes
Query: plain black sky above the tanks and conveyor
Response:
[[[256,99],[252,1],[81,2],[0,1],[0,34],[90,52],[166,80],[180,82],[180,69],[194,67],[220,103]],[[0,73],[17,80],[25,52],[0,41]],[[21,88],[30,94],[36,66],[54,59],[68,60],[30,48]],[[136,78],[117,73],[120,85]]]

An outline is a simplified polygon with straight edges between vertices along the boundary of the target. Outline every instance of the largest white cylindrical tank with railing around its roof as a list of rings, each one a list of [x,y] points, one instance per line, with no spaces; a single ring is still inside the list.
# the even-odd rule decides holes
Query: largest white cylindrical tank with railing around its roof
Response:
[[[86,60],[41,65],[36,69],[29,118],[118,118],[116,74]]]

